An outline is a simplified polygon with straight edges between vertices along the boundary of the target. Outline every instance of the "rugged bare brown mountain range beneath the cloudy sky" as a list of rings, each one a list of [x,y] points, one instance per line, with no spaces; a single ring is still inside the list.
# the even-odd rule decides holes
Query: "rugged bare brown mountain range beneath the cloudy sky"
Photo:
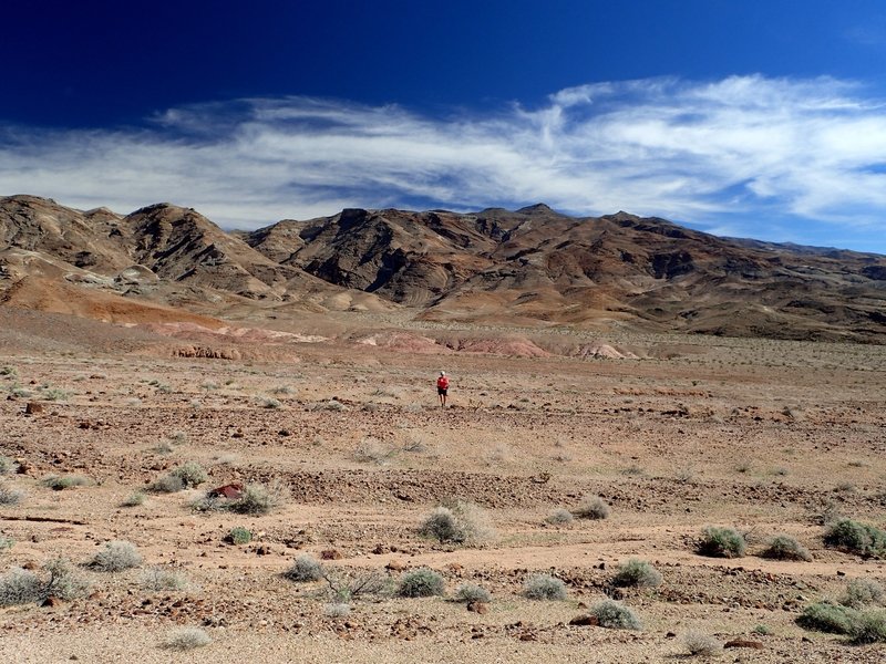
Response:
[[[0,303],[116,322],[418,320],[884,343],[886,257],[627,212],[344,209],[225,231],[194,209],[0,198]]]

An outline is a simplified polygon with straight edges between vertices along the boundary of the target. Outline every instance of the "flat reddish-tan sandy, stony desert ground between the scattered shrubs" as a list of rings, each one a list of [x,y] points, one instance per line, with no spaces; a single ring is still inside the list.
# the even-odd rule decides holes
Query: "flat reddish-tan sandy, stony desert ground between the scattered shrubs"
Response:
[[[689,656],[690,631],[761,645],[725,651],[734,662],[886,656],[794,622],[848,579],[886,582],[882,560],[822,540],[825,511],[884,526],[884,347],[607,336],[590,341],[642,359],[568,359],[358,340],[269,345],[270,362],[258,344],[272,339],[250,342],[248,359],[175,359],[145,352],[134,330],[114,350],[107,330],[94,326],[92,345],[86,323],[64,343],[3,338],[0,455],[24,470],[3,483],[24,498],[0,506],[0,533],[16,541],[0,572],[60,556],[86,563],[109,540],[133,542],[145,561],[117,573],[82,568],[87,596],[0,609],[4,661],[673,662]],[[445,409],[433,388],[440,369],[452,377]],[[31,402],[42,412],[25,414]],[[189,460],[207,469],[206,484],[121,506]],[[53,474],[89,483],[55,491],[40,481]],[[266,516],[190,508],[235,480],[280,483],[289,498]],[[611,506],[608,519],[546,522],[588,495]],[[420,536],[454,498],[481,506],[495,535],[477,547]],[[697,554],[708,525],[745,531],[748,554]],[[255,539],[226,543],[234,526]],[[775,533],[796,537],[814,560],[761,558]],[[329,618],[324,582],[280,577],[297,556],[323,551],[334,551],[324,561],[333,573],[395,580],[427,566],[449,598],[473,582],[493,600],[475,613],[447,598],[358,598],[350,615]],[[611,588],[629,558],[651,562],[662,584]],[[156,567],[187,587],[146,589],[144,571]],[[522,596],[538,571],[564,580],[568,599]],[[643,629],[568,624],[607,595]],[[213,642],[175,654],[163,644],[179,626]]]

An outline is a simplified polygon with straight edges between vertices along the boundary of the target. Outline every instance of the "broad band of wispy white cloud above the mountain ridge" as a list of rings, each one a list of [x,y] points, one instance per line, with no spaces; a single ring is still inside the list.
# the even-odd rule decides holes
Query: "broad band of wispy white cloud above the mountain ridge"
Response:
[[[172,108],[133,129],[0,127],[0,193],[121,211],[174,200],[241,228],[352,206],[542,200],[759,237],[765,227],[749,220],[767,215],[870,232],[886,218],[886,106],[852,82],[762,76],[597,83],[537,107],[442,118],[236,100]]]

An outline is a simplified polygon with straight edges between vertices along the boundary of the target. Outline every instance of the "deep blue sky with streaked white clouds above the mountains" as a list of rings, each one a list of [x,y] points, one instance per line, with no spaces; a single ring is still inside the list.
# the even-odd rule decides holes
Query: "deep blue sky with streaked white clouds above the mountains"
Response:
[[[886,253],[882,0],[30,0],[0,196],[225,228],[546,203]]]

